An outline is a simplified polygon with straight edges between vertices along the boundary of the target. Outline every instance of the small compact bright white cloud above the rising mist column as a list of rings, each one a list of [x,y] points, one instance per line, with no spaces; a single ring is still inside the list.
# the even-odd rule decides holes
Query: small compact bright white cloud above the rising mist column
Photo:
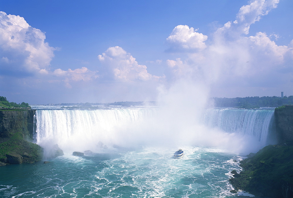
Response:
[[[206,48],[205,42],[207,36],[196,32],[194,28],[189,28],[188,25],[177,25],[167,41],[171,44],[171,51],[188,51],[202,50]]]

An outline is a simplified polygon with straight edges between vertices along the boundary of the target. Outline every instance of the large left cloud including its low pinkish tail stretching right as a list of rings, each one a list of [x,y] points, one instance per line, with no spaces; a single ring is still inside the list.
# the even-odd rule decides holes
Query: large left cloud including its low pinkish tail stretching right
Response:
[[[56,48],[50,47],[45,38],[45,33],[31,27],[23,17],[0,11],[1,75],[21,78],[34,76],[30,81],[38,82],[63,81],[68,88],[71,88],[73,81],[90,81],[98,77],[98,71],[90,71],[86,67],[50,71]]]

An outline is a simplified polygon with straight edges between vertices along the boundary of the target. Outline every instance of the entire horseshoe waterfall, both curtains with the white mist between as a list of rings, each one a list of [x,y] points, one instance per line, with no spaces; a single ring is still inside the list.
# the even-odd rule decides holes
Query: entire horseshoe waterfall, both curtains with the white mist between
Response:
[[[260,149],[268,144],[268,134],[273,129],[273,112],[208,109],[204,121],[201,122],[204,124],[199,125],[198,121],[197,124],[183,124],[179,119],[168,120],[169,117],[164,118],[160,109],[156,108],[37,110],[35,142],[45,148],[58,144],[68,152],[95,152],[100,149],[99,142],[108,147],[150,143],[172,146],[229,144],[231,147],[234,142],[234,147],[237,148],[240,147],[239,144],[251,148],[248,143],[252,143]]]

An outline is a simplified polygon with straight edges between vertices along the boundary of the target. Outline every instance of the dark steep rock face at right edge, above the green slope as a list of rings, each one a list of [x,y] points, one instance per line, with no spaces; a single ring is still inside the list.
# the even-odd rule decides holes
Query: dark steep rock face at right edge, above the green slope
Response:
[[[275,109],[278,127],[285,143],[293,143],[293,105],[286,105]]]

